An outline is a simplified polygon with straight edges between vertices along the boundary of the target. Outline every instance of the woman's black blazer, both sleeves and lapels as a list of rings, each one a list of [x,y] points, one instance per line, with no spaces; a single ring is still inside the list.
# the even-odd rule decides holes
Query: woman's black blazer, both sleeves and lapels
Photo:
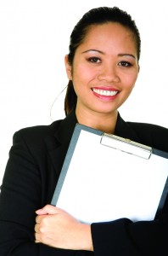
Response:
[[[52,200],[76,122],[72,112],[52,125],[14,134],[0,194],[0,255],[167,255],[168,203],[154,221],[132,223],[121,218],[92,224],[94,253],[34,242],[35,211]],[[115,135],[168,152],[168,129],[158,125],[125,122],[118,114]]]

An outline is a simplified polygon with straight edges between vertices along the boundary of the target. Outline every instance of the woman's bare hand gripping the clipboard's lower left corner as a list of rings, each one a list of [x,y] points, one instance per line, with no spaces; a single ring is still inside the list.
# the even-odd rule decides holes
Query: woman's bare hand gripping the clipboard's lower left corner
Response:
[[[36,242],[50,247],[93,251],[90,225],[81,224],[68,212],[50,205],[37,210],[36,214]]]

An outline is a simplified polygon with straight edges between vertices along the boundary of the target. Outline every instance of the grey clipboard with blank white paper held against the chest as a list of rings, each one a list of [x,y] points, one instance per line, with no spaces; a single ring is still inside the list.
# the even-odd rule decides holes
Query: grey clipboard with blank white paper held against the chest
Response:
[[[168,153],[77,124],[51,204],[87,224],[153,220],[167,176]]]

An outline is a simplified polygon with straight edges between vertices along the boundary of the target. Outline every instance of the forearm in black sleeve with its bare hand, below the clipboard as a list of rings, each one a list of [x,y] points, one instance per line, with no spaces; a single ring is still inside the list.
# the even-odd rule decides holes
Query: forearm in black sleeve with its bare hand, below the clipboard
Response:
[[[36,213],[39,214],[35,226],[36,242],[91,251],[94,247],[96,256],[167,255],[166,211],[160,220],[133,223],[120,218],[92,224],[92,230],[90,225],[78,223],[67,212],[53,206],[46,206]]]

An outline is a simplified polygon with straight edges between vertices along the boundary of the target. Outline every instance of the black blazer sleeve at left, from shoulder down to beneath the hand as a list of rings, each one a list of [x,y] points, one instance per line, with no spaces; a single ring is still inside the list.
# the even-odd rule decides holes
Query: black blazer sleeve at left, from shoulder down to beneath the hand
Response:
[[[0,255],[93,255],[35,243],[35,211],[42,207],[43,193],[40,168],[22,133],[15,133],[0,194]]]

